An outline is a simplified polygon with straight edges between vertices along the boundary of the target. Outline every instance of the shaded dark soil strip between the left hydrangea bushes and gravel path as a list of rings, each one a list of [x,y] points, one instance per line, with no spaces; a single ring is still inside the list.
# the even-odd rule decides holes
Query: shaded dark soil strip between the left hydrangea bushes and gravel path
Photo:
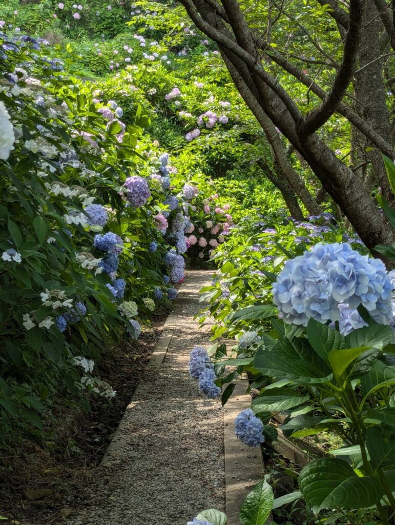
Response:
[[[13,525],[61,523],[70,508],[81,503],[83,487],[97,467],[144,376],[170,309],[154,317],[138,342],[123,342],[110,349],[95,368],[116,396],[112,404],[90,399],[88,414],[60,400],[55,435],[45,443],[24,443],[15,455],[0,457],[0,516]],[[52,420],[52,424],[54,421]],[[29,493],[39,490],[39,493]],[[37,498],[33,499],[35,496]],[[15,521],[14,521],[15,520]]]

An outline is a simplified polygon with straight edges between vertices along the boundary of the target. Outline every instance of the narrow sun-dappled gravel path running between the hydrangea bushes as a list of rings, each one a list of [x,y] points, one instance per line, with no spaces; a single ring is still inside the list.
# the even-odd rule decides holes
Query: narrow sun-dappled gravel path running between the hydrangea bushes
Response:
[[[189,271],[166,324],[173,331],[159,373],[148,377],[120,424],[114,446],[68,525],[186,525],[206,508],[225,510],[223,419],[188,373],[199,330],[199,289],[209,272]]]

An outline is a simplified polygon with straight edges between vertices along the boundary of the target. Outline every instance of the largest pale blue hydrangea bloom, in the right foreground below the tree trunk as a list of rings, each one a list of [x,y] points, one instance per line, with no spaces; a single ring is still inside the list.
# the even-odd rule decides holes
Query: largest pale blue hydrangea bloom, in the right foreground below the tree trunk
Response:
[[[392,319],[393,285],[385,265],[347,243],[319,243],[285,263],[273,283],[273,302],[284,321],[307,325],[338,321],[339,303],[355,310],[362,304],[377,322]]]

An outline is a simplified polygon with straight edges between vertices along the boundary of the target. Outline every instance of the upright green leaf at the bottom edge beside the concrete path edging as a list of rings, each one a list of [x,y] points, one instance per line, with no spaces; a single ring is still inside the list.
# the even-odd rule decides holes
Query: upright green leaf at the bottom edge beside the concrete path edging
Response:
[[[258,483],[241,506],[241,525],[265,525],[273,508],[273,501],[273,490],[268,482],[263,480]]]

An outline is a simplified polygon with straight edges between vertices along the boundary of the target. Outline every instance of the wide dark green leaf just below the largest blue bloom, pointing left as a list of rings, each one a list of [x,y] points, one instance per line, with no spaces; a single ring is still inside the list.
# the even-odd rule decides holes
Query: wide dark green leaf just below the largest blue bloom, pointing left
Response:
[[[270,351],[259,349],[254,366],[263,375],[301,384],[324,383],[332,376],[325,362],[304,339],[285,337]]]

